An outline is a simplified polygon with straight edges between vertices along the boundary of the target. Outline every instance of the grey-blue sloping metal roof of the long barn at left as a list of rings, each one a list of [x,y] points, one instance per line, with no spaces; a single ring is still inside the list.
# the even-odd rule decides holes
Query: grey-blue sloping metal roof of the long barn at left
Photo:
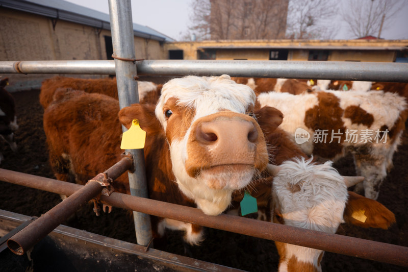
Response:
[[[85,8],[64,0],[0,0],[0,7],[111,30],[109,14]],[[172,38],[137,23],[133,23],[133,32],[135,36],[142,38],[158,41],[173,41]]]

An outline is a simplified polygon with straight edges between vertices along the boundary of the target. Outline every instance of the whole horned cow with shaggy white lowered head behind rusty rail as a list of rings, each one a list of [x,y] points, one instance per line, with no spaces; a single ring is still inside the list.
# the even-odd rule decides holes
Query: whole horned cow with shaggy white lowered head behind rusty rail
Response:
[[[244,189],[257,198],[258,219],[327,233],[335,233],[344,222],[382,229],[395,222],[394,214],[377,201],[347,192],[346,187],[361,177],[342,177],[329,161],[313,162],[282,129],[267,133],[266,138],[270,162],[279,166],[268,165],[274,177]],[[233,208],[239,207],[242,195],[243,190],[234,193]],[[275,244],[279,271],[321,271],[323,251]]]

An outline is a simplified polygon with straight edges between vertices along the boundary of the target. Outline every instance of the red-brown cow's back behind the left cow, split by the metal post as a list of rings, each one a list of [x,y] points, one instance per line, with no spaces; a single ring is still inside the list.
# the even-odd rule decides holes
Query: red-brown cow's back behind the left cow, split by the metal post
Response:
[[[140,103],[155,104],[159,99],[163,85],[149,81],[138,81],[137,86]],[[96,92],[118,99],[116,78],[81,79],[57,76],[46,79],[41,84],[40,104],[44,109],[53,101],[53,95],[59,88],[71,88],[88,93]]]

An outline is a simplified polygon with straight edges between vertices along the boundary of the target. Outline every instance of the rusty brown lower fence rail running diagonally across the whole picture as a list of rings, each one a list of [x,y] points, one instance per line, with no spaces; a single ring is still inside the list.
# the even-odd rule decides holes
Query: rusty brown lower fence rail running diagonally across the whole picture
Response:
[[[0,169],[0,180],[49,192],[71,195],[83,186]],[[272,222],[221,214],[210,216],[201,210],[113,192],[102,195],[102,203],[160,217],[198,224],[253,237],[281,241],[379,262],[408,266],[408,248],[337,234],[300,229]]]

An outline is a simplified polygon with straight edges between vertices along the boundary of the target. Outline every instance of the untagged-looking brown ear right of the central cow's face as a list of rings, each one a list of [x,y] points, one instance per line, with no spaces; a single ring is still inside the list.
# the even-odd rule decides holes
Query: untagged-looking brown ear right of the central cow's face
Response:
[[[254,113],[257,117],[259,126],[267,136],[274,132],[279,125],[281,125],[284,118],[281,111],[268,106],[257,109]]]

